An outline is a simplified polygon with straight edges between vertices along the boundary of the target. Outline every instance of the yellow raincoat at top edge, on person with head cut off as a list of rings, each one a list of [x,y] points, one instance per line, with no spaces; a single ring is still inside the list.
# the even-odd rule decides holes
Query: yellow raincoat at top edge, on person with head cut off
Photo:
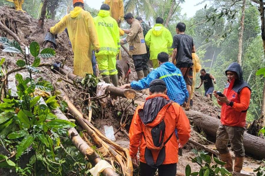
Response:
[[[123,0],[105,0],[105,4],[110,6],[110,16],[116,21],[124,17]]]

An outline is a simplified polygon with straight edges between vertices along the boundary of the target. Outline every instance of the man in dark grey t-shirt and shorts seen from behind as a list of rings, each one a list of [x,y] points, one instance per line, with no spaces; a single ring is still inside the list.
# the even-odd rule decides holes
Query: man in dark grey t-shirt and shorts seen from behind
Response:
[[[193,70],[192,70],[192,53],[196,53],[195,45],[193,43],[193,38],[186,35],[184,32],[186,30],[186,25],[184,23],[178,23],[176,26],[177,34],[173,37],[172,48],[172,63],[176,60],[176,67],[180,69],[182,75],[185,79],[187,89],[189,92],[189,98],[185,110],[190,109],[191,103],[191,86],[193,81]]]

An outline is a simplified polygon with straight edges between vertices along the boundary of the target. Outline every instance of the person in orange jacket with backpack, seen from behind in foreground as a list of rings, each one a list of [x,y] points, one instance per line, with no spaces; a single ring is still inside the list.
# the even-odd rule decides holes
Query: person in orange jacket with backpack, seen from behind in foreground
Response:
[[[153,80],[149,89],[150,96],[137,107],[130,126],[130,157],[138,165],[140,147],[141,175],[153,176],[158,169],[159,176],[175,176],[178,149],[188,142],[190,123],[180,105],[169,100],[162,79]]]

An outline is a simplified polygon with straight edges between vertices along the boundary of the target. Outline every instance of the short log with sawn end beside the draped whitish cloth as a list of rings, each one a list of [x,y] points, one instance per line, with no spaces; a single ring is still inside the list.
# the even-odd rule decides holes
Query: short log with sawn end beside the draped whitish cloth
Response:
[[[106,90],[110,95],[117,97],[123,97],[127,99],[134,99],[136,97],[136,92],[131,89],[120,89],[118,87],[109,86]]]

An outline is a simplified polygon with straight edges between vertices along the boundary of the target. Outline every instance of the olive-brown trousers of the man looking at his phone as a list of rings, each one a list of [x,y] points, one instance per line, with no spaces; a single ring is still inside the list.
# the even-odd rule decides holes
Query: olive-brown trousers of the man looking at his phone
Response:
[[[216,132],[216,149],[220,154],[226,154],[228,150],[228,142],[231,142],[232,151],[238,157],[245,156],[243,146],[243,135],[245,128],[238,126],[220,125]]]

